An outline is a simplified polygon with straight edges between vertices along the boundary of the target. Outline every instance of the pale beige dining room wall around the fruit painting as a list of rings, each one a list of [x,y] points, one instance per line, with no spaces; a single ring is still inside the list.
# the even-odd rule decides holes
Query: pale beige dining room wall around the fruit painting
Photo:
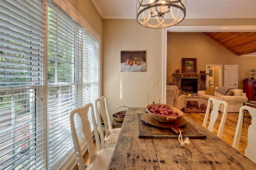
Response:
[[[147,92],[150,102],[152,95],[162,101],[163,30],[144,28],[136,20],[104,20],[103,28],[102,94],[110,115],[123,105],[146,107]],[[146,72],[120,72],[120,51],[146,51]]]

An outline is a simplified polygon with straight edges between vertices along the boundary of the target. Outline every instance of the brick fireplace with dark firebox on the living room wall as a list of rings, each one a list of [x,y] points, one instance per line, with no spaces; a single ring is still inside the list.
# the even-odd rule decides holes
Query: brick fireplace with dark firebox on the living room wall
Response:
[[[197,93],[206,89],[206,74],[175,73],[172,76],[172,84],[182,91]]]

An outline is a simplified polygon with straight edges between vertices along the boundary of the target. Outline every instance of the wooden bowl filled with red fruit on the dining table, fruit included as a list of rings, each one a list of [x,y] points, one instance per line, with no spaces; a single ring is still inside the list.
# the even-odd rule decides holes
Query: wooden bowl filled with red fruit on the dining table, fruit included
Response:
[[[152,104],[148,105],[146,108],[148,113],[159,122],[171,123],[184,116],[184,113],[180,109],[171,105]]]

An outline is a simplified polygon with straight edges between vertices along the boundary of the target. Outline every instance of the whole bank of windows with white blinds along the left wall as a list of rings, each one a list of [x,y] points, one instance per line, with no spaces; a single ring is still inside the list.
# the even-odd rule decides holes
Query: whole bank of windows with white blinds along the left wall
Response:
[[[0,8],[0,169],[57,169],[70,111],[99,97],[99,42],[53,2]]]

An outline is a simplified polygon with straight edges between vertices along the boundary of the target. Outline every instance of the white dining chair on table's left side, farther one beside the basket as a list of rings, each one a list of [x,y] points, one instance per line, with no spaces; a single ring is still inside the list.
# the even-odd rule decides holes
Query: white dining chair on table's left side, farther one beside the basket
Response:
[[[104,127],[99,126],[101,148],[112,148],[116,145],[118,135],[121,128],[113,128],[108,114],[106,97],[102,96],[95,100],[96,116],[98,124],[101,123],[101,117],[104,122]],[[105,130],[105,133],[104,133]]]

